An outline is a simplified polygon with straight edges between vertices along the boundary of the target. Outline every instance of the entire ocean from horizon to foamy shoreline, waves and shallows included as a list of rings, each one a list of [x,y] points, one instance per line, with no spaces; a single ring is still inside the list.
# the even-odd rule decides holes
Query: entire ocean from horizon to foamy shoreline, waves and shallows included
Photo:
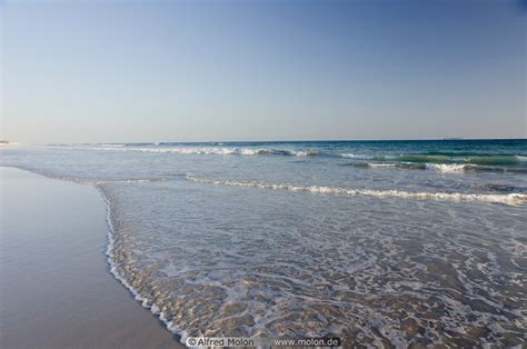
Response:
[[[525,139],[48,144],[0,161],[96,186],[111,272],[183,340],[526,345]]]

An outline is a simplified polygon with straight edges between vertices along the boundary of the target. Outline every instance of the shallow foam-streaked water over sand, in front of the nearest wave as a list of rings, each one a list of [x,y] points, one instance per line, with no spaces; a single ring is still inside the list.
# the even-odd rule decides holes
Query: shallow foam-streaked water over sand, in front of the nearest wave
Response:
[[[188,333],[469,345],[523,332],[523,208],[140,186],[103,187],[119,196],[118,268]]]

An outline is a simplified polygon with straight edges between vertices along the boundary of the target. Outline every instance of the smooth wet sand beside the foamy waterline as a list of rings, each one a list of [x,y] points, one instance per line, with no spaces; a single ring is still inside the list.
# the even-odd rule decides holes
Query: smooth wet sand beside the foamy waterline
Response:
[[[95,188],[2,167],[0,182],[1,348],[182,347],[109,273]]]

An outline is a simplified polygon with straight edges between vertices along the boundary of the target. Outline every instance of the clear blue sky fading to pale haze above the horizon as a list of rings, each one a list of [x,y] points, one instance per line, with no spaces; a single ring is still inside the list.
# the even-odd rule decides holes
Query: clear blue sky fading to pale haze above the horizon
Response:
[[[526,138],[524,0],[0,0],[0,139]]]

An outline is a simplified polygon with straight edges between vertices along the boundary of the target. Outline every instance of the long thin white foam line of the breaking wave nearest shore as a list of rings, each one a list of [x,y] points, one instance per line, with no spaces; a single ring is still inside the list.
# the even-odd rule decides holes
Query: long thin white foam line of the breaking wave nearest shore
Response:
[[[349,189],[328,186],[299,186],[288,183],[268,183],[258,181],[237,181],[237,180],[215,180],[208,178],[198,178],[187,176],[187,180],[228,187],[245,187],[270,190],[284,190],[295,192],[310,192],[315,195],[336,195],[336,196],[365,196],[377,198],[404,198],[420,200],[441,200],[441,201],[479,201],[517,206],[527,201],[527,195],[508,193],[508,195],[487,195],[487,193],[461,193],[461,192],[411,192],[401,190],[372,190],[372,189]]]

